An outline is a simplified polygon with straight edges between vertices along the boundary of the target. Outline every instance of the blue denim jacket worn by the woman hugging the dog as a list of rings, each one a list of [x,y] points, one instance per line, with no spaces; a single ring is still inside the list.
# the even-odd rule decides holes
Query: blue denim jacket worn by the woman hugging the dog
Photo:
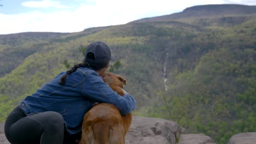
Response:
[[[83,117],[95,102],[113,104],[122,115],[135,108],[136,100],[130,94],[121,97],[90,68],[78,68],[67,75],[66,84],[61,86],[59,80],[64,74],[66,72],[62,71],[36,93],[20,102],[19,106],[26,115],[45,111],[59,112],[64,118],[65,129],[75,134],[81,130]]]

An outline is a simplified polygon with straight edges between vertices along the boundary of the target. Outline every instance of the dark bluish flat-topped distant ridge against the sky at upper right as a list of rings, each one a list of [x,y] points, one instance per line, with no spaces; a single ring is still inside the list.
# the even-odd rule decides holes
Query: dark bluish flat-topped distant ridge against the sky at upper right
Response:
[[[174,13],[170,15],[148,17],[134,22],[147,21],[170,21],[174,19],[182,19],[185,17],[203,17],[203,16],[225,16],[225,15],[248,15],[256,14],[256,5],[240,5],[240,4],[209,4],[196,5],[184,9],[181,13]]]

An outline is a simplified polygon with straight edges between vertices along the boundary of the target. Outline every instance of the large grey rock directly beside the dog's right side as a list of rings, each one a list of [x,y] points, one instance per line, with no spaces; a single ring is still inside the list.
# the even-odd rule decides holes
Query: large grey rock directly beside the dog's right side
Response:
[[[161,118],[133,117],[125,143],[176,143],[177,138],[184,133],[187,131],[176,122]]]

